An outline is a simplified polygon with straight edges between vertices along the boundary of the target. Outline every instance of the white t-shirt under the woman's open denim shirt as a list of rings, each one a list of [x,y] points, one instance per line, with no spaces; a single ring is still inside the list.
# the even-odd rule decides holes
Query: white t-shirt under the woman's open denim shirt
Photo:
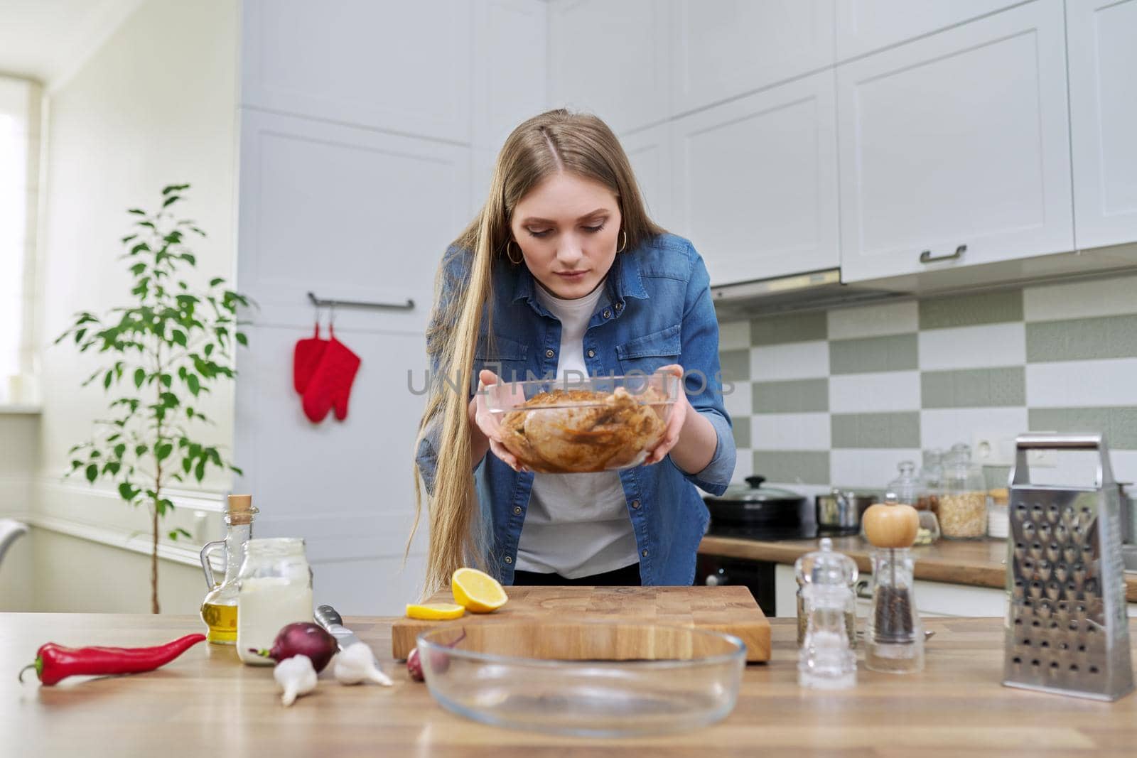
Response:
[[[578,300],[562,300],[537,286],[537,299],[561,320],[557,378],[565,372],[588,376],[584,332],[604,294],[604,283]],[[639,560],[616,472],[534,474],[525,524],[517,544],[517,568],[580,578],[612,572]]]

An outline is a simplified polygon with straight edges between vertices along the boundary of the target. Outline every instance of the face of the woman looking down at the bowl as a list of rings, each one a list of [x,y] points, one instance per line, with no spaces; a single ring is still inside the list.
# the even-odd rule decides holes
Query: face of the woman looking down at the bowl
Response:
[[[562,172],[521,199],[509,227],[533,277],[555,297],[574,300],[607,276],[622,239],[620,222],[612,190]]]

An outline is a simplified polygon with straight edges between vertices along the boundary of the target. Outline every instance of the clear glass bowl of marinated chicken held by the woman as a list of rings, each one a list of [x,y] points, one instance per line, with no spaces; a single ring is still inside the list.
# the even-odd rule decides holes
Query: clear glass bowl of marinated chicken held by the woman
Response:
[[[487,388],[485,405],[526,468],[581,474],[642,464],[681,384],[674,374],[503,382]]]

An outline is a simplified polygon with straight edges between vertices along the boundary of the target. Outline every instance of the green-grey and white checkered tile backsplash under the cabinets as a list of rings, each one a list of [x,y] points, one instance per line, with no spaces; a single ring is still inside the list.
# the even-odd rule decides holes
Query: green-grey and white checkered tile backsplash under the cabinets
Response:
[[[1137,276],[732,320],[720,339],[736,481],[882,488],[956,442],[1002,440],[988,463],[1006,464],[1024,431],[1102,431],[1137,481]]]

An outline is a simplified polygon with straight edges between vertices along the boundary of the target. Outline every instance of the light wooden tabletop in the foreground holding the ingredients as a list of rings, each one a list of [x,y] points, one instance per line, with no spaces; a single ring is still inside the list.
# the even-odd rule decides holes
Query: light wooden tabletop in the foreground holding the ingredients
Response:
[[[392,619],[349,618],[380,653]],[[147,674],[16,682],[47,641],[141,645],[200,626],[189,616],[0,614],[0,725],[6,756],[786,756],[843,758],[1032,758],[1132,756],[1137,694],[1118,702],[1004,688],[997,618],[926,619],[936,632],[927,667],[905,676],[857,672],[838,692],[797,685],[794,619],[771,619],[773,657],[749,666],[738,706],[690,733],[634,740],[549,736],[475,724],[443,710],[425,685],[381,655],[393,688],[342,686],[280,705],[268,668],[241,665],[232,648],[199,644]],[[1137,639],[1137,620],[1130,627]]]

